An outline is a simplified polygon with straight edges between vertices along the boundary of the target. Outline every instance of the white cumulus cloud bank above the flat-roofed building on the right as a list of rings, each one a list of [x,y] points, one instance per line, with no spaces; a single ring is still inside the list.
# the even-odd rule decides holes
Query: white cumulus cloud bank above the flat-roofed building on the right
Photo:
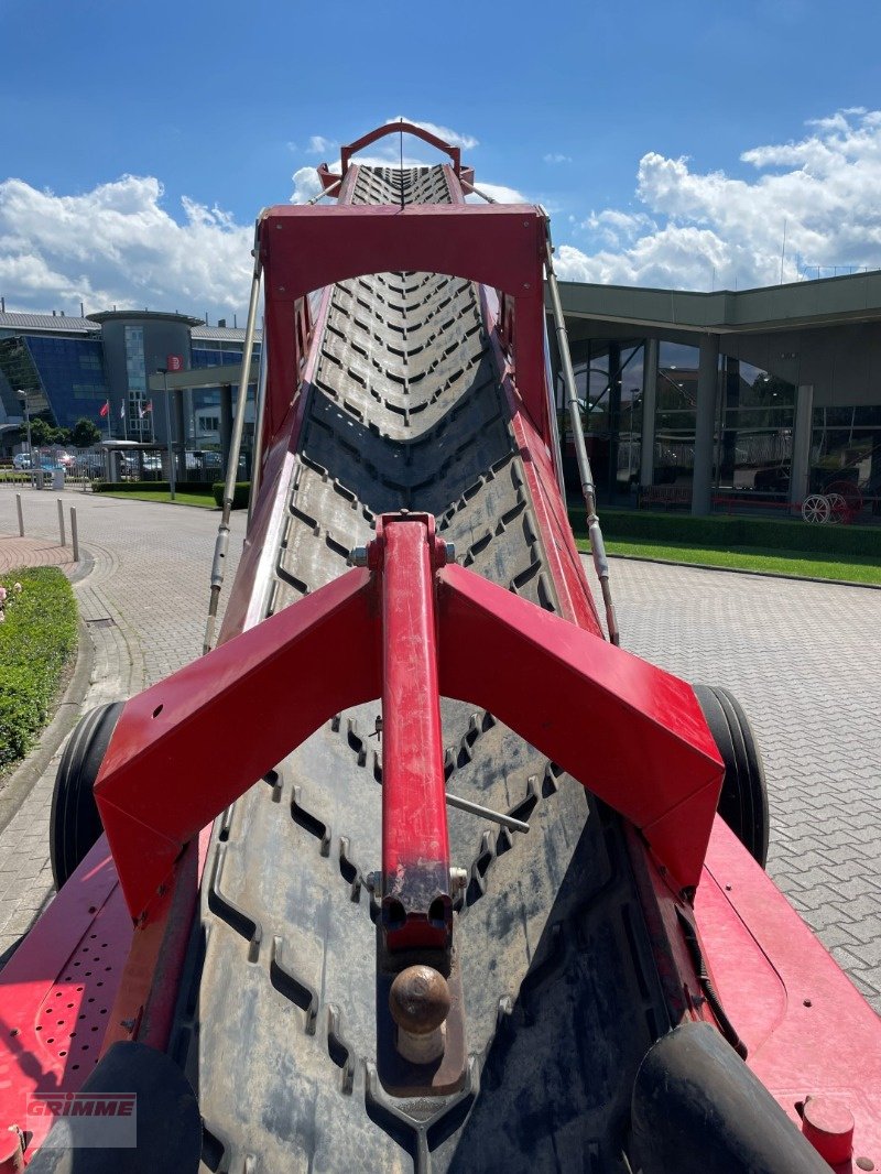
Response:
[[[564,244],[572,281],[708,289],[771,285],[881,268],[881,112],[815,119],[796,142],[745,150],[746,178],[646,153],[637,211],[591,212],[589,248]]]

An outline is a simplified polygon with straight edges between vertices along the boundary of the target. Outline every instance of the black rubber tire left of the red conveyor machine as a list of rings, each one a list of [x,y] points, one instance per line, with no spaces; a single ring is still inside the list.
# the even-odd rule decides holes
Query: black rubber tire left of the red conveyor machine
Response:
[[[49,859],[58,889],[103,831],[92,789],[122,706],[122,701],[114,701],[81,717],[61,756],[49,815]]]

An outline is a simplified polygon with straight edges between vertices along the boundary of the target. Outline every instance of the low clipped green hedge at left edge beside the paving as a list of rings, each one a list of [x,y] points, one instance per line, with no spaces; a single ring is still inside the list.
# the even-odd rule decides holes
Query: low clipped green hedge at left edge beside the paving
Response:
[[[20,589],[18,589],[20,585]],[[0,771],[23,758],[51,716],[78,643],[76,602],[58,567],[0,576]]]

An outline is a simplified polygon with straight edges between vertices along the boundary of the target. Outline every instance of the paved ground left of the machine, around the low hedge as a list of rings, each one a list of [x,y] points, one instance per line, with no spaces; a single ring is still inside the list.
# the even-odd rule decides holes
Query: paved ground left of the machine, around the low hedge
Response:
[[[58,546],[59,497],[68,541],[69,506],[76,507],[80,553],[88,555],[79,568],[69,547]],[[55,552],[69,560],[62,569],[74,581],[94,653],[81,711],[128,697],[201,654],[218,513],[74,491],[25,491],[22,507],[25,539],[18,537],[15,495],[0,486],[0,551],[42,553],[42,561]],[[227,585],[243,534],[244,517],[234,513]],[[0,957],[52,896],[48,826],[60,757],[61,749],[0,835]]]

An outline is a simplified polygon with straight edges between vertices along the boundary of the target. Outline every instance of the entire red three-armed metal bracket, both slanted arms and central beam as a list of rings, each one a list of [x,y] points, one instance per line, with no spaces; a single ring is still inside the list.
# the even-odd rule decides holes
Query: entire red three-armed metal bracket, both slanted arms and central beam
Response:
[[[631,819],[679,889],[697,886],[722,764],[691,687],[460,567],[436,572],[436,670],[429,572],[443,555],[426,520],[418,542],[411,524],[381,520],[372,574],[343,575],[127,702],[95,797],[135,918],[223,808],[322,722],[381,693],[392,738],[386,872],[423,855],[449,865],[438,679]],[[392,538],[386,581],[392,529],[405,537]]]

